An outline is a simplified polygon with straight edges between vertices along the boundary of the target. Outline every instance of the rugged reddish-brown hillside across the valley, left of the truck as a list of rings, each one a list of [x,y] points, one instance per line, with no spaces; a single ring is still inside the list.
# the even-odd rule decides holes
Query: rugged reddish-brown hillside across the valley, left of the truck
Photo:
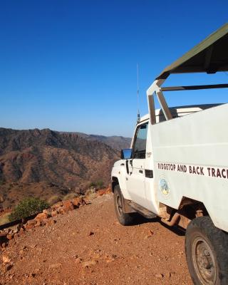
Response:
[[[0,195],[9,207],[21,197],[83,192],[110,182],[119,151],[77,133],[0,128]]]

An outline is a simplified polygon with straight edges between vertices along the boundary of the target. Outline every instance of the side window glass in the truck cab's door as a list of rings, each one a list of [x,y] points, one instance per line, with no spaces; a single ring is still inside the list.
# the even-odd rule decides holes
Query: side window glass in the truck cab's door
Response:
[[[133,146],[133,158],[145,158],[147,145],[148,123],[138,126],[135,133],[135,143]]]

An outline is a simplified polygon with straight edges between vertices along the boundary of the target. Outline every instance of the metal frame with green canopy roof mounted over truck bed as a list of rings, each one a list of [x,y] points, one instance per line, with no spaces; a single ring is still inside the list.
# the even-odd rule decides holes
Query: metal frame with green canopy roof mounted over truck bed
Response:
[[[170,66],[167,66],[156,80],[147,89],[147,100],[150,113],[150,122],[155,120],[154,94],[161,105],[166,120],[172,119],[172,115],[167,106],[163,91],[174,90],[197,90],[209,88],[228,88],[228,84],[214,84],[203,86],[172,86],[161,87],[168,76],[173,73],[217,73],[218,71],[228,71],[228,24],[208,36],[204,41],[185,53]]]

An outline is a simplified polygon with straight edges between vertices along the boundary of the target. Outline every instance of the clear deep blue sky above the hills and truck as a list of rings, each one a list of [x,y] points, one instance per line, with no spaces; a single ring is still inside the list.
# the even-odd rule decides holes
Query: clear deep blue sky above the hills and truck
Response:
[[[0,1],[0,126],[131,136],[165,66],[227,22],[227,0]],[[227,83],[228,73],[167,85]],[[167,93],[170,105],[227,102],[227,90]],[[218,96],[219,93],[219,96]]]

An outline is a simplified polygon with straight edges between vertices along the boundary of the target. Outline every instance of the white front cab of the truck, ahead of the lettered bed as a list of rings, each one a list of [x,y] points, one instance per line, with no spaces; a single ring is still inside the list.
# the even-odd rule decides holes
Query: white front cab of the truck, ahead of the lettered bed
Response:
[[[170,113],[172,118],[180,118],[218,105],[221,104],[180,106],[170,108]],[[155,116],[156,123],[165,122],[162,109],[155,110]],[[114,186],[116,181],[120,183],[125,199],[160,215],[163,212],[163,207],[160,207],[161,204],[157,199],[159,187],[155,182],[154,152],[155,150],[152,149],[152,125],[150,124],[150,115],[147,114],[138,121],[130,148],[123,150],[122,160],[115,162],[112,180]],[[167,167],[172,167],[172,164],[167,164]]]

